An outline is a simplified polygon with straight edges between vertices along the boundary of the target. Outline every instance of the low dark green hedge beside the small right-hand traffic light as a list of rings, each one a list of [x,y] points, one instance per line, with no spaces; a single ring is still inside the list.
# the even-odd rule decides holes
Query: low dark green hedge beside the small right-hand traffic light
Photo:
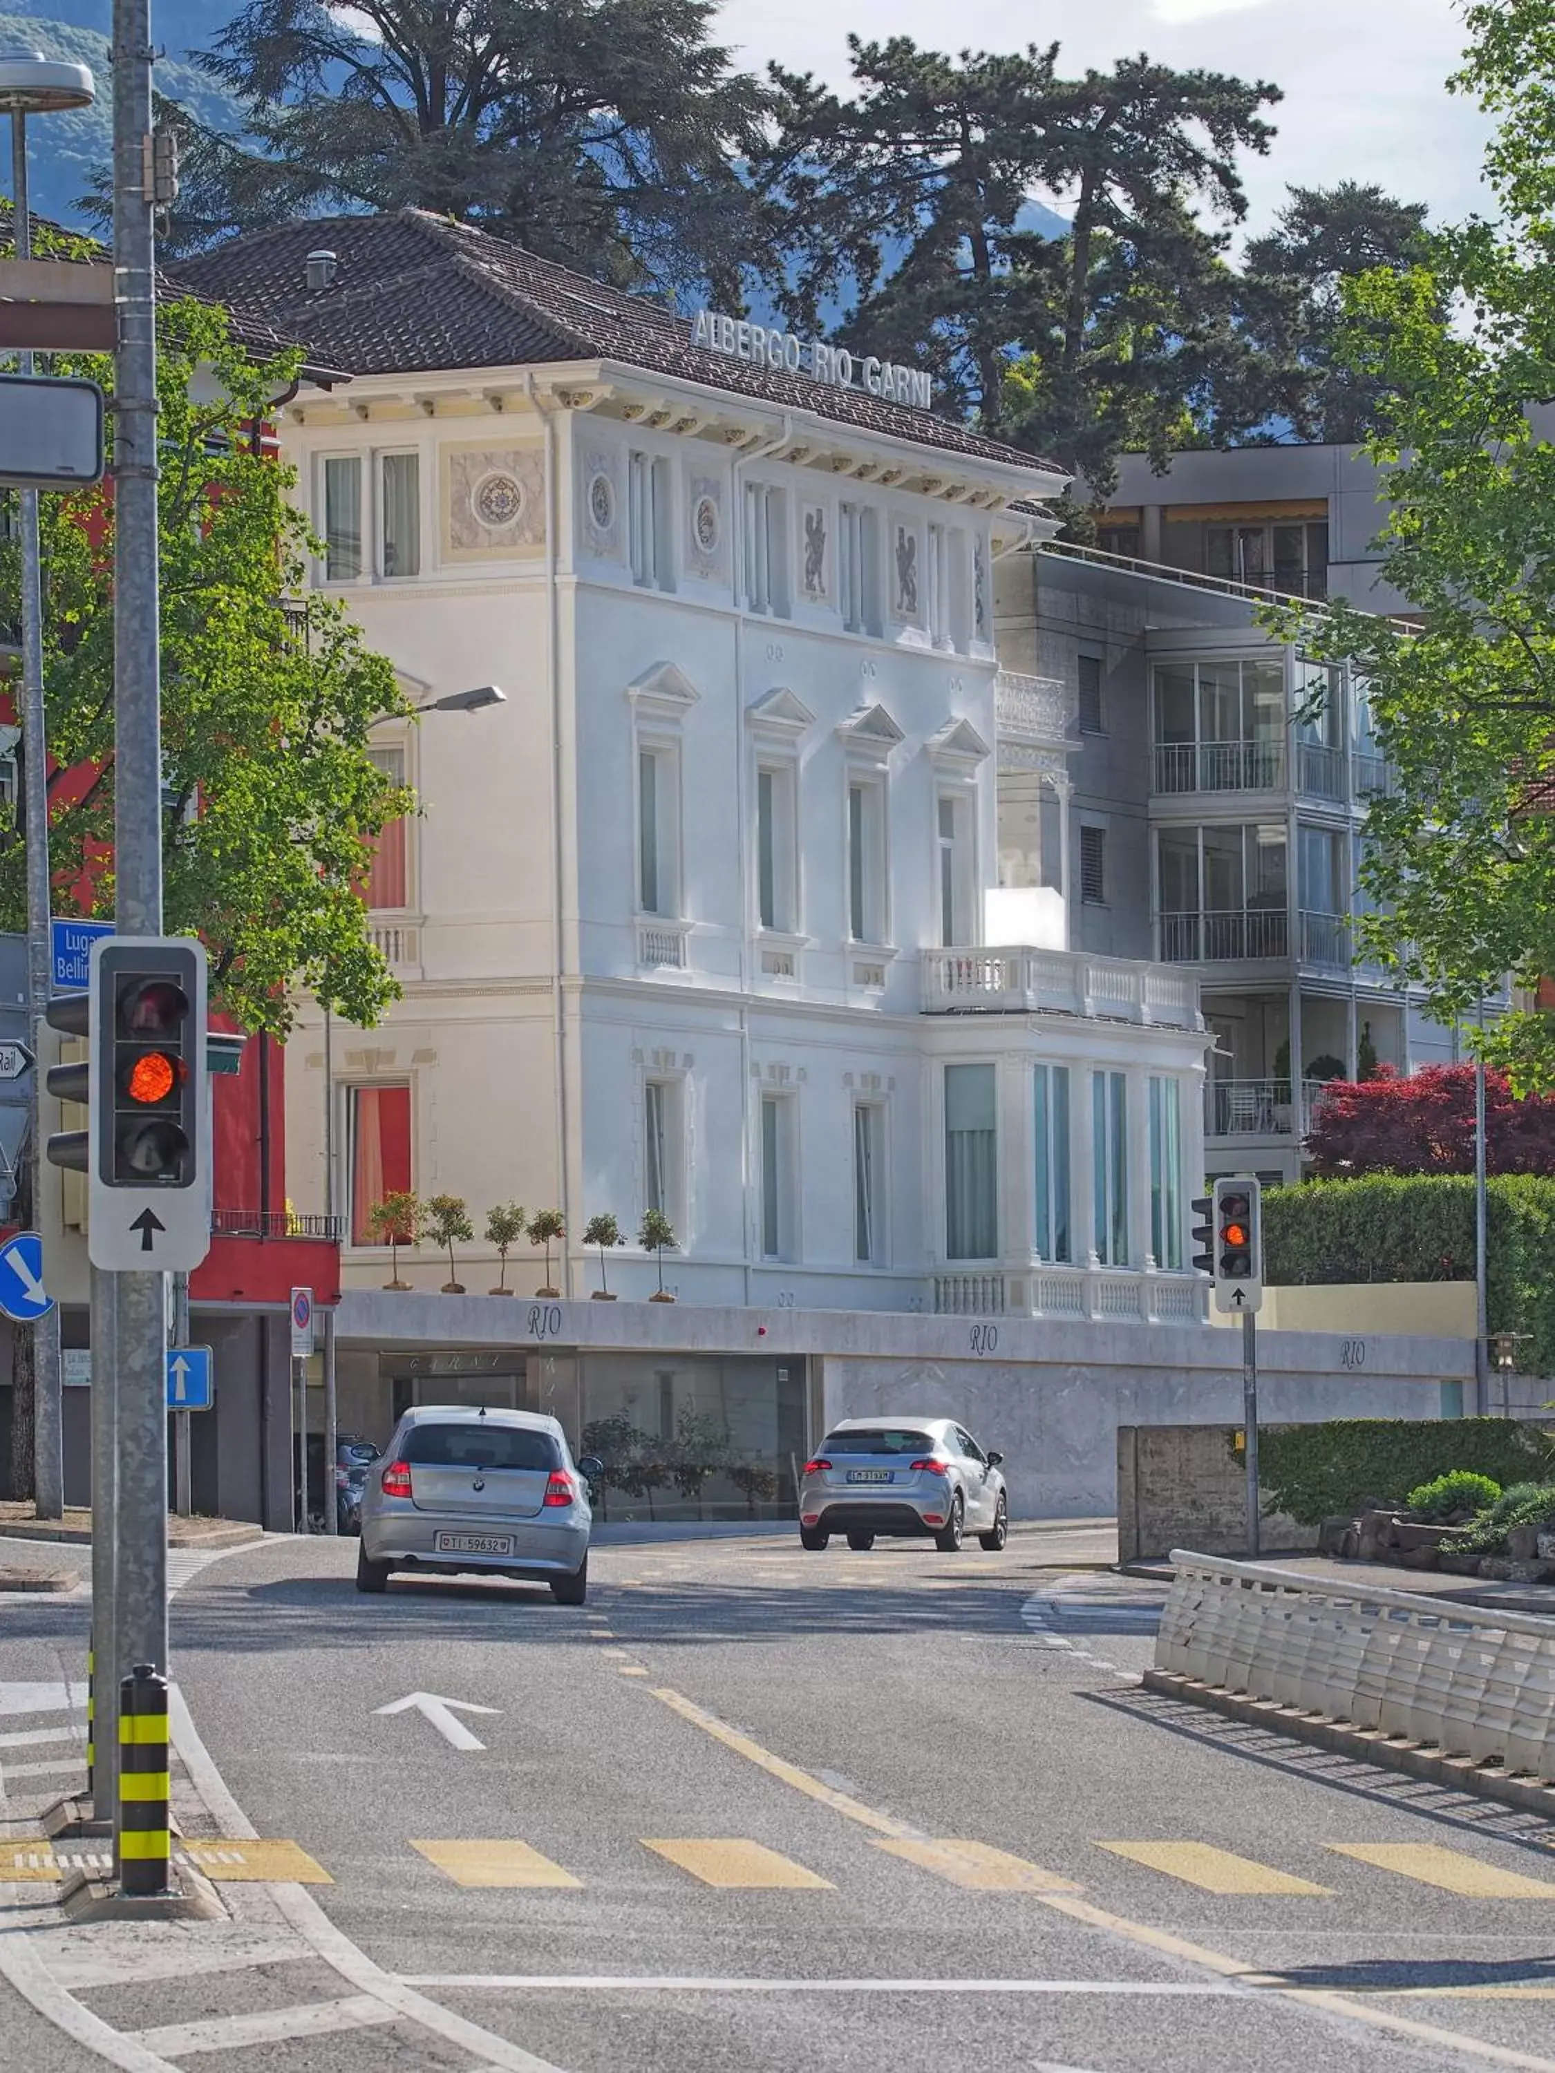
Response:
[[[1493,1476],[1503,1488],[1545,1482],[1555,1476],[1555,1437],[1505,1418],[1331,1418],[1259,1435],[1265,1499],[1302,1526],[1354,1511],[1364,1497],[1402,1505],[1418,1484],[1453,1468]]]

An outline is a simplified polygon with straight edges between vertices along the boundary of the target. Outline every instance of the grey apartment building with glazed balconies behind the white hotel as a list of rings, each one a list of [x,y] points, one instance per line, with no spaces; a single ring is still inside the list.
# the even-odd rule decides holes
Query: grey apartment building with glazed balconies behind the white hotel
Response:
[[[1402,605],[1379,487],[1354,448],[1130,456],[1097,547],[1003,572],[999,653],[1072,692],[1078,746],[1039,786],[1001,773],[999,883],[1062,898],[1076,947],[1198,981],[1211,1173],[1294,1177],[1325,1080],[1460,1053],[1358,941],[1389,784],[1366,686],[1254,616],[1273,593]]]

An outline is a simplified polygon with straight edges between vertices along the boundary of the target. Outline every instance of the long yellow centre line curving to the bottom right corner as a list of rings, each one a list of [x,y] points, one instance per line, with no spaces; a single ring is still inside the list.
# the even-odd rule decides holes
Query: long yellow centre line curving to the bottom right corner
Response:
[[[757,1764],[773,1779],[782,1779],[784,1785],[804,1793],[809,1799],[829,1806],[846,1820],[873,1828],[877,1835],[923,1837],[923,1830],[912,1828],[908,1822],[896,1820],[892,1814],[879,1814],[875,1808],[865,1806],[863,1799],[854,1799],[850,1793],[833,1791],[829,1785],[811,1777],[809,1770],[800,1770],[798,1764],[790,1764],[771,1750],[763,1750],[763,1745],[751,1735],[742,1735],[736,1727],[730,1727],[728,1721],[719,1721],[717,1714],[707,1712],[672,1685],[653,1685],[651,1692],[663,1706],[678,1712],[682,1721],[690,1721],[695,1727],[701,1727],[703,1733],[722,1741],[726,1750],[744,1756],[746,1762]],[[1366,2007],[1366,2003],[1354,1998],[1352,1994],[1341,1994],[1331,1988],[1288,1986],[1275,1973],[1261,1971],[1240,1957],[1232,1957],[1225,1951],[1211,1951],[1205,1944],[1192,1942],[1188,1936],[1174,1936],[1171,1930],[1159,1930],[1149,1922],[1132,1922],[1128,1915],[1118,1915],[1107,1907],[1093,1905],[1078,1893],[1033,1893],[1030,1901],[1035,1907],[1049,1907],[1057,1915],[1068,1915],[1070,1922],[1082,1922],[1086,1928],[1120,1936],[1144,1951],[1155,1951],[1159,1957],[1178,1959],[1186,1965],[1198,1965],[1203,1971],[1217,1973],[1223,1980],[1236,1980],[1242,1986],[1269,1988],[1281,1998],[1296,2000],[1304,2009],[1317,2009],[1323,2015],[1337,2015],[1344,2021],[1364,2023],[1370,2029],[1387,2029],[1397,2036],[1412,2038],[1418,2044],[1429,2044],[1437,2052],[1451,2050],[1460,2052],[1464,2058],[1482,2058],[1487,2065],[1518,2067],[1520,2073],[1555,2073],[1555,2058],[1538,2058],[1534,2052],[1509,2050],[1507,2046],[1491,2044],[1485,2038],[1464,2036],[1460,2029],[1441,2029],[1435,2023],[1422,2023],[1410,2015],[1397,2015],[1391,2009]]]

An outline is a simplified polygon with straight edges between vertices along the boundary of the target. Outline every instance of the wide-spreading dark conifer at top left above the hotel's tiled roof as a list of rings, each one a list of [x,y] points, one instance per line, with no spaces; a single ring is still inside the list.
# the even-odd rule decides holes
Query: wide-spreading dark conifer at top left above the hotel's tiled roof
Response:
[[[203,64],[253,143],[189,153],[189,232],[423,207],[622,282],[730,282],[767,91],[711,0],[249,0]],[[174,224],[174,230],[178,224]]]

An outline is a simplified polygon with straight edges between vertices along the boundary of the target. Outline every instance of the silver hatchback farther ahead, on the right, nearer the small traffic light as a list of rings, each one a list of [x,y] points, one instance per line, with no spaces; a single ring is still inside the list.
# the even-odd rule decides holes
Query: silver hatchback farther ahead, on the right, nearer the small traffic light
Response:
[[[844,1418],[804,1464],[798,1538],[819,1553],[831,1534],[869,1549],[877,1534],[929,1534],[952,1555],[964,1534],[997,1551],[1010,1538],[1001,1453],[983,1453],[954,1418]]]

